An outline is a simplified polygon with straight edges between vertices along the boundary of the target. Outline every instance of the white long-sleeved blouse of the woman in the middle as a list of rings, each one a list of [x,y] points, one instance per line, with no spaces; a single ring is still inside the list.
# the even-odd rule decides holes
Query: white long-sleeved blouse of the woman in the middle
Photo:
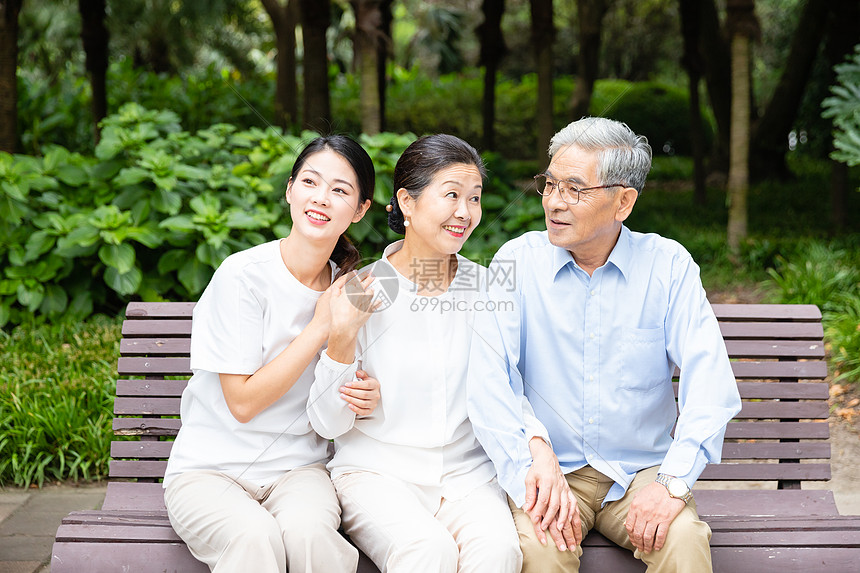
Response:
[[[485,304],[486,269],[458,255],[447,292],[419,296],[388,261],[402,243],[389,245],[369,267],[383,305],[359,331],[355,362],[341,364],[323,352],[308,415],[320,435],[334,438],[332,477],[373,471],[419,486],[437,505],[432,500],[460,499],[495,476],[466,413],[472,324]],[[356,417],[340,397],[356,369],[380,383],[381,399],[369,416]]]

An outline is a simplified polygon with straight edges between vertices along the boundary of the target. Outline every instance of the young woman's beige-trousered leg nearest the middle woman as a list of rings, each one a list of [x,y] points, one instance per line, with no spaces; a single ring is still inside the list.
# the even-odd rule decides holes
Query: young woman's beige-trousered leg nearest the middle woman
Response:
[[[262,505],[278,523],[290,573],[355,571],[358,550],[338,532],[340,504],[325,466],[287,472],[270,486]]]

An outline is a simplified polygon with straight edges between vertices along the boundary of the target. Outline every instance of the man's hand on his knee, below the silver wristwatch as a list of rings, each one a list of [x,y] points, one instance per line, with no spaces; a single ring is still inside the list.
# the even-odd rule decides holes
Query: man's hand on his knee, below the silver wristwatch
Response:
[[[671,497],[659,483],[642,488],[630,504],[624,527],[633,547],[643,553],[659,551],[666,543],[669,525],[684,509],[684,500]]]

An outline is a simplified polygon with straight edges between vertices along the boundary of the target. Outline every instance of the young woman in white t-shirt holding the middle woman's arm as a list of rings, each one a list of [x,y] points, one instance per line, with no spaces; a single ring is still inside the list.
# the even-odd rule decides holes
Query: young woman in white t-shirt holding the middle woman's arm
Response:
[[[213,571],[355,571],[358,553],[337,531],[328,442],[305,405],[329,335],[329,298],[347,277],[332,281],[359,259],[343,233],[364,216],[373,188],[360,145],[312,141],[287,185],[289,236],[228,257],[194,308],[194,375],[164,499],[173,528]],[[344,403],[369,413],[378,383],[354,386],[364,407]]]

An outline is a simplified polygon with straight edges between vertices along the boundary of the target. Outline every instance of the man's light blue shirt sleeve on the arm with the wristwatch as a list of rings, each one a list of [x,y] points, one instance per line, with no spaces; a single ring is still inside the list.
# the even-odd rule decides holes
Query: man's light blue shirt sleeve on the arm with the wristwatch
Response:
[[[741,399],[699,267],[689,255],[674,262],[670,288],[666,346],[681,370],[680,413],[660,471],[692,487],[705,465],[720,462],[726,424],[740,411]]]

